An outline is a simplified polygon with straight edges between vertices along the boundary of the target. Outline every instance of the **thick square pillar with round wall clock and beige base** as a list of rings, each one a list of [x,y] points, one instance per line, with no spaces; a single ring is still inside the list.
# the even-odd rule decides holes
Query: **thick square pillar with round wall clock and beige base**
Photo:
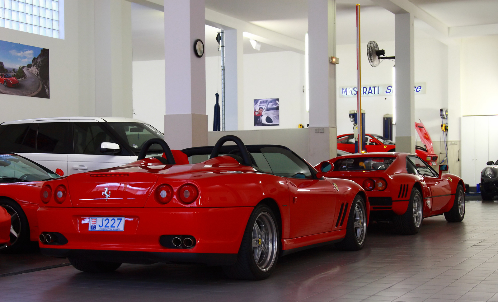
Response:
[[[204,11],[204,0],[164,0],[164,139],[172,149],[208,143],[206,60],[194,53],[195,40],[206,44]]]

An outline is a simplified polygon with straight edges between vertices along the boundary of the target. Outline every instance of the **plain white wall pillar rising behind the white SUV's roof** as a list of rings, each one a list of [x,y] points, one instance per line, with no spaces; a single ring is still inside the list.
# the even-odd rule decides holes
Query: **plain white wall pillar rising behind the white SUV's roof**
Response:
[[[131,117],[131,3],[94,0],[95,115]]]

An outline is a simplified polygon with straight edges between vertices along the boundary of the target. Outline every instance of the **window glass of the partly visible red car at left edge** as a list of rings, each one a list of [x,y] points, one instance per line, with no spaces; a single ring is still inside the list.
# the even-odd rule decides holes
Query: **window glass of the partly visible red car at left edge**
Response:
[[[34,182],[59,177],[18,155],[0,154],[0,183]]]

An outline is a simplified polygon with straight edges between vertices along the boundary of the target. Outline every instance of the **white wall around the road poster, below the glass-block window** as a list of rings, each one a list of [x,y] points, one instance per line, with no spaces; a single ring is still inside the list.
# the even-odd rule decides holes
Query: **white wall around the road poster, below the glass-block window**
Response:
[[[1,40],[48,48],[50,60],[50,99],[0,95],[0,122],[95,114],[93,1],[64,8],[64,40],[0,27]]]

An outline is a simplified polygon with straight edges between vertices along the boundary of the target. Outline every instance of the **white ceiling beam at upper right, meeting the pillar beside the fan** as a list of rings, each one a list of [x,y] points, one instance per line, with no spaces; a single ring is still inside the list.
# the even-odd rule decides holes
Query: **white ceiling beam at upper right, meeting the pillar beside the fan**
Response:
[[[448,38],[449,28],[446,24],[434,18],[432,15],[428,14],[425,10],[416,6],[408,0],[372,0],[375,4],[389,10],[394,14],[409,12],[415,16],[415,18],[420,19],[434,28],[439,32],[437,39],[441,40]],[[433,33],[433,32],[432,32]],[[429,34],[432,34],[429,33]]]

